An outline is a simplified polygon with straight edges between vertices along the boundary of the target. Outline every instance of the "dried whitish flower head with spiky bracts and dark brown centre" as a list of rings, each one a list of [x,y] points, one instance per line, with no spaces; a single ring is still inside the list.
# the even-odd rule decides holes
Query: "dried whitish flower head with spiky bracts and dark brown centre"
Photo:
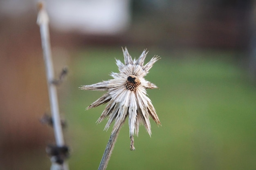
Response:
[[[157,125],[160,125],[155,108],[146,94],[146,88],[157,88],[157,86],[144,79],[149,69],[159,60],[159,57],[154,56],[144,65],[144,60],[148,53],[146,50],[142,52],[137,60],[132,60],[126,48],[123,49],[123,53],[124,64],[120,60],[116,60],[119,73],[112,72],[110,74],[114,79],[85,85],[81,89],[108,91],[88,106],[87,109],[108,103],[97,122],[101,122],[108,117],[108,122],[104,129],[107,130],[115,120],[112,133],[121,128],[126,117],[129,117],[130,138],[133,144],[133,135],[134,133],[138,135],[140,123],[144,124],[149,135],[151,135],[150,116]],[[132,147],[131,149],[133,150],[134,148]]]

